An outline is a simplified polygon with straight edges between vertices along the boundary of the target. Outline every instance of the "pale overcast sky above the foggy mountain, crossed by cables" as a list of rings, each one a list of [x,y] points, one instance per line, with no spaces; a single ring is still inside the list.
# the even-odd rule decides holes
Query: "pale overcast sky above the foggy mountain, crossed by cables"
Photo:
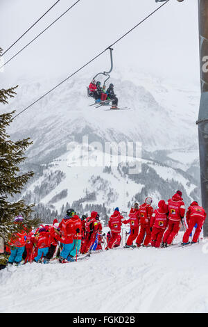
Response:
[[[76,0],[61,0],[15,47],[5,61]],[[0,47],[7,49],[55,0],[0,0]],[[200,83],[198,1],[171,0],[114,47],[115,70],[138,69],[159,77]],[[155,0],[81,0],[62,19],[13,59],[1,73],[10,83],[20,77],[67,77],[112,44],[162,3]],[[107,70],[107,53],[86,70]],[[200,87],[200,85],[199,85]]]

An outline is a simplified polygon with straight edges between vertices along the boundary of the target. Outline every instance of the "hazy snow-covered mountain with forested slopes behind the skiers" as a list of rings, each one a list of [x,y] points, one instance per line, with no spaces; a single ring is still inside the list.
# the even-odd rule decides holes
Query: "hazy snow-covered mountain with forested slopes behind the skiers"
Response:
[[[57,82],[50,81],[49,85]],[[107,210],[118,205],[127,209],[132,201],[141,202],[148,195],[153,196],[156,205],[157,200],[168,198],[176,189],[182,189],[187,205],[193,198],[198,200],[195,121],[199,90],[168,85],[141,72],[117,72],[111,82],[119,106],[131,110],[89,106],[93,103],[87,98],[89,80],[76,77],[15,118],[9,131],[12,138],[30,136],[33,140],[28,162],[47,165],[24,196],[59,212],[67,202],[82,205],[82,209],[90,203],[104,204]],[[49,89],[46,81],[19,84],[9,106],[17,113]],[[27,103],[23,102],[25,98],[29,99]],[[86,137],[89,146],[80,154],[78,145]],[[104,148],[105,142],[141,143],[139,174],[129,175],[128,168],[121,165],[111,169],[110,164],[99,165],[96,161],[103,152],[98,147]],[[80,160],[85,157],[89,162],[83,167]]]

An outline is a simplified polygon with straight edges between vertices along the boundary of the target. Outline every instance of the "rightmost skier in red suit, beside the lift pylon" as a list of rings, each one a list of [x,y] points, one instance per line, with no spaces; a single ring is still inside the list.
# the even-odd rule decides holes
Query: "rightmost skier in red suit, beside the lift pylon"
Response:
[[[197,228],[193,235],[193,240],[191,243],[196,243],[198,241],[198,237],[202,230],[202,225],[205,223],[206,217],[207,217],[207,214],[205,212],[205,209],[203,207],[200,207],[198,205],[198,202],[193,201],[187,211],[188,228],[187,228],[186,232],[184,232],[184,237],[182,239],[183,244],[189,243],[189,235],[191,234],[191,232],[196,224],[197,224]]]

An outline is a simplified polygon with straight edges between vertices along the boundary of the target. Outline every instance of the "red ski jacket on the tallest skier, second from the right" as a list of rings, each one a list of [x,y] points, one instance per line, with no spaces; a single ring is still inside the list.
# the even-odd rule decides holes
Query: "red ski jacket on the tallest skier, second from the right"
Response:
[[[181,221],[185,214],[185,206],[182,197],[175,193],[171,199],[166,202],[168,205],[168,218],[170,221]]]

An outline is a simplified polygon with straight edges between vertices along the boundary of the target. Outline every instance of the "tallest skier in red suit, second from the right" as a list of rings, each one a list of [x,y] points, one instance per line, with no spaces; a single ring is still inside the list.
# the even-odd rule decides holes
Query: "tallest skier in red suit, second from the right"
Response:
[[[171,199],[166,202],[168,205],[168,229],[164,233],[162,246],[170,246],[173,239],[180,230],[182,218],[185,214],[185,206],[182,199],[182,192],[177,191]]]

